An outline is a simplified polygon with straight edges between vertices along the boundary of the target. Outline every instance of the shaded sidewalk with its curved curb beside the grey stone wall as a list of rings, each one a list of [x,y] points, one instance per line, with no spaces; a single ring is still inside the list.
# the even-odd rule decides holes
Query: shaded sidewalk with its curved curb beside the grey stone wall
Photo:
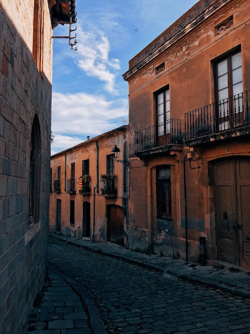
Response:
[[[88,292],[59,274],[48,268],[43,291],[36,297],[23,334],[105,334]]]

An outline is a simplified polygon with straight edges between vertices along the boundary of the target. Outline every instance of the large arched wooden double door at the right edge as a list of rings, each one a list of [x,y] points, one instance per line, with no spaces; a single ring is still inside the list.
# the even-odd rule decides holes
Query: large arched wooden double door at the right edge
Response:
[[[215,165],[215,224],[218,258],[250,264],[250,159],[232,158]]]

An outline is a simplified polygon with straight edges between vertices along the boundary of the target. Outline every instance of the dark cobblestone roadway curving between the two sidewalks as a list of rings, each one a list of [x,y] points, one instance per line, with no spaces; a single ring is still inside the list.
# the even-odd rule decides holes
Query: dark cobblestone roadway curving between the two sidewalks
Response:
[[[109,333],[249,333],[248,298],[48,240],[49,264],[87,289]]]

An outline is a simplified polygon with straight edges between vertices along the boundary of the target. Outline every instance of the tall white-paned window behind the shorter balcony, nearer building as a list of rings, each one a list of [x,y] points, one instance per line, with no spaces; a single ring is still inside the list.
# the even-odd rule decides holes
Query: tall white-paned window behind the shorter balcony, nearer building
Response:
[[[156,95],[158,144],[164,144],[170,133],[169,88]]]

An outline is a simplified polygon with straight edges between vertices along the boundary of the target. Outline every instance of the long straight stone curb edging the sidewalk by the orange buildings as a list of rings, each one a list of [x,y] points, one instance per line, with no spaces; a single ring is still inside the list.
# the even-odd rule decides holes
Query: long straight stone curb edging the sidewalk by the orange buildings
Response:
[[[129,263],[147,268],[149,270],[155,270],[155,271],[158,271],[158,272],[167,273],[167,274],[173,275],[173,276],[175,276],[179,279],[182,279],[182,280],[190,282],[190,283],[196,283],[196,284],[199,284],[199,285],[202,285],[202,286],[216,288],[216,289],[219,289],[223,292],[233,294],[234,296],[237,295],[237,296],[241,296],[243,298],[250,298],[250,290],[248,291],[248,290],[245,290],[245,289],[240,288],[240,287],[237,288],[235,286],[229,286],[229,285],[226,285],[223,282],[210,281],[207,278],[201,278],[201,277],[197,277],[197,276],[193,277],[193,276],[185,275],[183,273],[179,274],[177,271],[174,271],[172,269],[171,270],[166,269],[165,267],[162,267],[162,266],[157,265],[157,264],[145,263],[145,262],[142,262],[139,259],[131,259],[128,256],[124,256],[123,254],[117,254],[117,253],[114,254],[114,253],[107,252],[107,251],[102,250],[102,249],[92,248],[92,247],[89,247],[88,245],[82,245],[82,244],[79,244],[75,241],[64,239],[63,237],[60,237],[59,235],[56,235],[56,234],[49,234],[48,236],[53,237],[53,238],[58,239],[58,240],[61,240],[61,241],[64,241],[64,242],[67,242],[68,244],[77,246],[79,248],[84,248],[84,249],[87,249],[87,250],[92,251],[92,252],[101,253],[103,255],[106,255],[106,256],[109,256],[109,257],[112,257],[112,258],[116,258],[116,259],[119,259],[119,260],[124,260],[126,262],[129,262]]]

